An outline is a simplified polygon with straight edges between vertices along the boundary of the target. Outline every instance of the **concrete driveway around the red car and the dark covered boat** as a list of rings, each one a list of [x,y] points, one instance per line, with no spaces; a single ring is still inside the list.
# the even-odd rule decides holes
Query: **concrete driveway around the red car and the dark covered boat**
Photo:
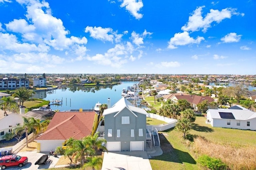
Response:
[[[45,153],[47,154],[47,153]],[[45,165],[35,165],[35,162],[42,156],[44,153],[37,153],[36,151],[26,151],[26,152],[18,152],[17,155],[27,156],[28,163],[26,163],[23,167],[12,166],[6,169],[8,170],[37,170],[37,169],[48,169],[54,168],[56,163],[59,160],[59,157],[50,156]]]

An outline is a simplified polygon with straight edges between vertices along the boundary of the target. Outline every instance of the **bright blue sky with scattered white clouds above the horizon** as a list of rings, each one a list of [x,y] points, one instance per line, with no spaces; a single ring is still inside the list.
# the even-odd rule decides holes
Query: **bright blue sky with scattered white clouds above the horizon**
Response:
[[[1,73],[256,74],[254,0],[0,0]]]

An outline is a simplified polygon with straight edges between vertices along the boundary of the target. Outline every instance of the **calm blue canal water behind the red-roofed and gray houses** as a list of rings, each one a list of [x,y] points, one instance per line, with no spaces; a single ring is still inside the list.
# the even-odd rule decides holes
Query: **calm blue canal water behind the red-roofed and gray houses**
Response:
[[[122,89],[127,88],[127,86],[133,86],[135,83],[137,82],[128,81],[114,86],[70,86],[51,91],[38,91],[34,94],[34,98],[62,101],[62,105],[51,105],[53,110],[93,109],[98,102],[107,104],[108,98],[110,98],[111,106],[113,106],[122,98]]]

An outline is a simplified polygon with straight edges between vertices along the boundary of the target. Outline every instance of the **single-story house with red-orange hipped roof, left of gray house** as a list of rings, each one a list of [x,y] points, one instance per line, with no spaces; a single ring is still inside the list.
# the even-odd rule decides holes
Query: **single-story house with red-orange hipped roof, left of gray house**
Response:
[[[47,130],[37,139],[38,152],[49,152],[64,146],[70,137],[82,139],[93,135],[98,126],[98,115],[94,110],[81,112],[57,112]]]

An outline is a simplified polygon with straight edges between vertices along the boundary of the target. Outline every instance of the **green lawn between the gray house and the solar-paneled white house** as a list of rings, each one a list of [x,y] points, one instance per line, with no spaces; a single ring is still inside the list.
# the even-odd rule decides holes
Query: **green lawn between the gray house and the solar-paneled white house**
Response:
[[[234,147],[243,147],[246,145],[256,145],[256,132],[239,129],[227,129],[212,127],[205,123],[205,117],[196,117],[195,126],[190,134],[200,135],[214,143],[231,145]],[[201,170],[202,167],[196,164],[198,155],[190,148],[193,143],[184,140],[182,133],[176,129],[168,129],[159,132],[162,141],[161,147],[164,147],[164,154],[150,159],[153,170]],[[168,150],[169,149],[169,150]]]

